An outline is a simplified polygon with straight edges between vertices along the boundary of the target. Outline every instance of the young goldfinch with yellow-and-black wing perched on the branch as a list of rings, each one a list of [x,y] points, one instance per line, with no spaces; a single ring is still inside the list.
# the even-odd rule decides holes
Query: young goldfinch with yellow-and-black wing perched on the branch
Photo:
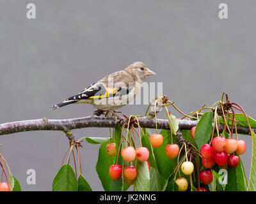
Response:
[[[71,103],[90,103],[100,111],[111,112],[129,104],[140,91],[141,84],[150,75],[156,73],[148,69],[143,62],[134,62],[124,70],[100,79],[52,108],[60,108]]]

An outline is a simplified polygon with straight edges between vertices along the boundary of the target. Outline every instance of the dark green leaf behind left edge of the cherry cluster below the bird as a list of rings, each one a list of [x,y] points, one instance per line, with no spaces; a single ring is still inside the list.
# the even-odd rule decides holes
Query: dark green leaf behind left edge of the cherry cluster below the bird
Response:
[[[109,156],[106,152],[106,146],[109,142],[110,140],[100,145],[98,161],[96,164],[96,171],[105,191],[111,191],[112,182],[112,179],[109,176],[109,167],[113,164],[113,157]]]

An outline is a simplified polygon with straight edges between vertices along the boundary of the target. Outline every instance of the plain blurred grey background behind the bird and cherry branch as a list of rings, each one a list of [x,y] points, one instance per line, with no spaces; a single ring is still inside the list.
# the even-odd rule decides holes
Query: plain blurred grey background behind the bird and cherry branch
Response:
[[[26,4],[36,4],[36,19]],[[228,19],[218,4],[228,4]],[[0,1],[0,123],[24,119],[65,119],[93,112],[91,105],[50,108],[109,73],[143,61],[163,82],[163,92],[184,112],[212,105],[223,91],[256,118],[255,1]],[[147,105],[121,110],[143,114]],[[174,115],[180,115],[173,110]],[[163,113],[159,117],[164,117]],[[108,136],[108,128],[74,131]],[[250,169],[248,150],[242,156]],[[1,154],[24,191],[51,191],[67,149],[58,131],[1,136]],[[102,191],[95,171],[99,145],[81,150],[83,175]],[[36,171],[36,185],[26,171]]]

